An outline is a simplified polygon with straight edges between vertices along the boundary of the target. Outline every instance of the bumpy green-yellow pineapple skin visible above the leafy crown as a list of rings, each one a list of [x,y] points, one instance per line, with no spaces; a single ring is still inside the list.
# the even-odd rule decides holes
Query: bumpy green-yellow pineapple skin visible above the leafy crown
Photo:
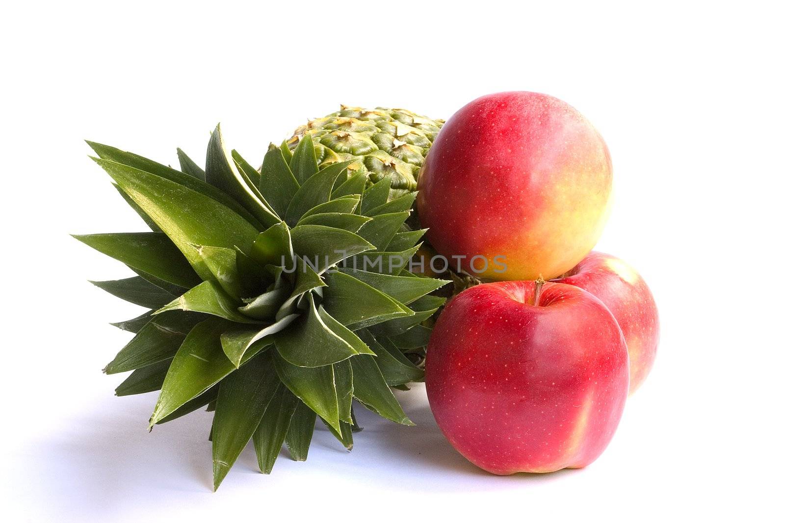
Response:
[[[442,119],[429,119],[406,109],[365,109],[341,105],[341,110],[309,121],[287,141],[294,150],[310,134],[319,167],[352,161],[349,174],[365,173],[373,184],[392,177],[393,193],[414,191],[417,178]]]

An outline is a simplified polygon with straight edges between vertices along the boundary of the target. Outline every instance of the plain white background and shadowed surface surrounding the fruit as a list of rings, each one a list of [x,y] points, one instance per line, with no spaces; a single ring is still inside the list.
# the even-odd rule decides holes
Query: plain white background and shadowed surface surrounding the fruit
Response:
[[[783,518],[783,30],[758,2],[13,2],[0,14],[5,521],[714,521]],[[586,4],[586,5],[584,5]],[[585,470],[494,477],[441,436],[363,415],[271,476],[252,449],[211,492],[209,415],[146,433],[155,393],[100,369],[140,313],[129,276],[67,233],[143,230],[84,138],[163,163],[209,131],[252,163],[338,104],[448,117],[534,90],[603,133],[597,246],[655,293],[662,342]]]

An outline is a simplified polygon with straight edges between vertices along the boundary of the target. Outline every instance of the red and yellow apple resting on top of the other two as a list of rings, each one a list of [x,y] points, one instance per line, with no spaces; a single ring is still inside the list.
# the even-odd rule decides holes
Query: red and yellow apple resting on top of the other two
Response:
[[[524,91],[480,97],[440,130],[418,178],[427,238],[491,280],[560,276],[592,250],[607,218],[611,156],[575,108]],[[506,257],[506,270],[492,263]],[[487,269],[475,256],[489,261]]]

